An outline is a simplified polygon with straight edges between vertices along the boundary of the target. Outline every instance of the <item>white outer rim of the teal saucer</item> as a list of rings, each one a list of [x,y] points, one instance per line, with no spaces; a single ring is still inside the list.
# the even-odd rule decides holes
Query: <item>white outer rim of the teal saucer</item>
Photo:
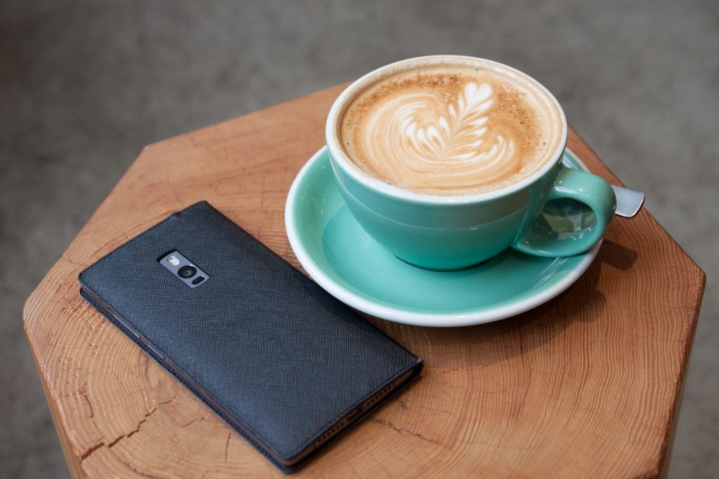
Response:
[[[327,154],[326,145],[321,147],[310,157],[310,159],[307,160],[307,162],[305,162],[293,180],[292,186],[288,192],[287,200],[285,201],[285,231],[290,241],[290,247],[303,269],[307,271],[307,274],[317,284],[319,284],[322,289],[329,292],[329,294],[336,297],[336,299],[348,304],[350,307],[369,315],[380,317],[384,320],[416,326],[461,327],[503,320],[508,317],[519,315],[538,307],[551,299],[554,299],[554,297],[557,297],[559,294],[564,292],[567,288],[574,284],[574,282],[577,282],[577,279],[579,279],[580,276],[587,271],[587,268],[589,268],[590,264],[592,264],[596,258],[603,242],[599,241],[595,244],[595,246],[592,246],[592,248],[585,251],[585,253],[582,253],[582,255],[585,256],[584,259],[582,259],[582,261],[580,261],[580,263],[577,264],[574,269],[567,274],[567,276],[560,279],[559,282],[541,292],[537,292],[536,294],[532,294],[525,299],[511,304],[504,304],[500,307],[491,308],[489,310],[467,310],[464,312],[452,313],[418,312],[378,304],[377,302],[372,302],[368,299],[360,297],[358,294],[350,292],[346,288],[342,287],[341,284],[337,284],[334,279],[331,279],[331,277],[319,266],[317,266],[313,259],[311,259],[311,256],[303,247],[303,241],[301,241],[297,233],[296,222],[293,215],[296,205],[297,191],[309,169],[315,162],[319,161],[319,158],[323,154]],[[571,157],[572,162],[576,163],[584,171],[589,171],[587,165],[584,164],[584,162],[582,162],[582,160],[580,160],[569,148],[565,149],[564,154],[562,154],[562,158],[564,158],[564,155]]]

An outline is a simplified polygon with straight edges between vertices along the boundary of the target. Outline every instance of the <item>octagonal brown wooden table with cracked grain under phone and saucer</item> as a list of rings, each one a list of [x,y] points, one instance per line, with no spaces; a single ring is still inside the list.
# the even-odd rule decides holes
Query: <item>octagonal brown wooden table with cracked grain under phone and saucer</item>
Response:
[[[73,476],[282,476],[84,302],[76,278],[200,199],[298,266],[285,197],[342,86],[145,147],[29,297],[27,337]],[[569,147],[618,183],[573,131]],[[423,378],[298,475],[666,473],[704,284],[644,210],[615,220],[584,276],[536,310],[458,329],[370,318],[425,359]]]

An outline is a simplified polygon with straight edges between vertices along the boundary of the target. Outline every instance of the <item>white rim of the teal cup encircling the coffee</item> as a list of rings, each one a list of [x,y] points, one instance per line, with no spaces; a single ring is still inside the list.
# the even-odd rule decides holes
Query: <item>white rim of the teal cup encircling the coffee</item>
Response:
[[[339,138],[336,134],[336,123],[337,121],[339,121],[339,113],[342,113],[342,111],[344,111],[344,107],[347,105],[348,101],[353,98],[353,93],[355,93],[355,90],[357,90],[359,86],[363,86],[365,85],[365,83],[369,83],[370,79],[379,77],[380,75],[385,73],[386,70],[398,69],[407,63],[441,59],[467,61],[478,60],[480,62],[489,63],[490,65],[495,65],[498,68],[507,70],[510,74],[521,76],[526,80],[529,80],[530,83],[532,83],[534,86],[536,86],[536,88],[541,90],[541,92],[543,92],[546,97],[549,98],[549,101],[551,101],[551,103],[554,103],[554,106],[557,107],[562,128],[560,132],[559,144],[557,144],[557,149],[555,149],[554,153],[551,154],[549,161],[547,161],[546,164],[544,164],[536,172],[533,172],[528,177],[523,178],[522,180],[511,185],[507,185],[505,187],[501,187],[496,190],[490,190],[487,192],[473,193],[472,195],[451,196],[429,195],[426,193],[405,190],[403,188],[390,185],[387,182],[383,182],[382,180],[377,180],[377,178],[372,177],[366,172],[362,171],[362,169],[359,169],[359,167],[357,167],[352,162],[352,160],[349,159],[349,156],[347,155],[347,153],[344,152],[344,149],[339,147]],[[562,159],[562,152],[567,149],[568,133],[569,132],[567,128],[567,118],[564,115],[564,110],[562,109],[562,106],[559,104],[559,101],[557,101],[557,98],[555,98],[554,95],[552,95],[551,92],[547,90],[544,85],[539,83],[539,81],[537,81],[530,75],[527,75],[526,73],[522,72],[521,70],[517,70],[516,68],[505,65],[504,63],[497,62],[495,60],[488,60],[486,58],[470,57],[468,55],[426,55],[422,57],[406,58],[405,60],[399,60],[397,62],[384,65],[380,68],[376,68],[370,73],[362,75],[362,77],[358,78],[357,80],[354,80],[352,83],[349,84],[349,86],[347,86],[347,88],[342,90],[342,93],[340,93],[334,103],[332,103],[325,124],[325,141],[330,153],[329,157],[331,159],[331,163],[334,167],[341,167],[342,170],[347,173],[347,175],[350,175],[357,182],[361,183],[367,188],[370,188],[370,190],[380,192],[388,197],[393,197],[398,200],[406,200],[412,203],[431,203],[439,205],[455,203],[475,203],[477,201],[493,200],[495,198],[503,197],[505,195],[510,195],[513,192],[517,192],[527,187],[528,185],[531,185],[533,182],[536,182],[537,180],[539,180],[539,178],[546,175],[546,173],[549,172],[549,170],[551,170]]]

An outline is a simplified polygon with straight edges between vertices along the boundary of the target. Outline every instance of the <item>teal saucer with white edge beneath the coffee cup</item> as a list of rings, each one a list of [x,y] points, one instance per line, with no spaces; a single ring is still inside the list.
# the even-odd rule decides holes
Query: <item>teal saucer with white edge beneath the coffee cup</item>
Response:
[[[587,171],[569,150],[562,161]],[[561,236],[592,220],[593,213],[583,205],[560,201],[548,203],[540,230]],[[326,147],[295,178],[285,205],[285,227],[300,264],[329,294],[385,320],[435,327],[476,325],[531,310],[577,281],[601,244],[567,258],[507,249],[462,271],[410,266],[367,235],[349,213]]]

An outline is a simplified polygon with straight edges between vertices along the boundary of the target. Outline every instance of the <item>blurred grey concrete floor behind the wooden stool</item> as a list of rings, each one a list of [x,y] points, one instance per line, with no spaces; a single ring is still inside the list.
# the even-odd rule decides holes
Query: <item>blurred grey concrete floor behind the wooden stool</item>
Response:
[[[403,57],[493,58],[707,272],[670,476],[719,476],[719,3],[0,2],[0,477],[68,474],[22,304],[143,145]]]

